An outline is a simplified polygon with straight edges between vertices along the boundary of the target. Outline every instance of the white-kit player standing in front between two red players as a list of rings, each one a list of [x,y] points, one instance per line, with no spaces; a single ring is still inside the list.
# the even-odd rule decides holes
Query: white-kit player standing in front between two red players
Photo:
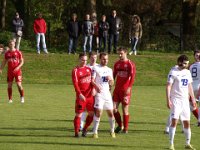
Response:
[[[95,95],[95,116],[93,119],[93,137],[98,138],[98,127],[103,110],[107,111],[110,123],[110,135],[115,138],[115,119],[113,114],[113,101],[110,93],[110,87],[114,84],[113,71],[107,67],[108,54],[101,53],[100,64],[93,68],[92,83],[96,89]]]

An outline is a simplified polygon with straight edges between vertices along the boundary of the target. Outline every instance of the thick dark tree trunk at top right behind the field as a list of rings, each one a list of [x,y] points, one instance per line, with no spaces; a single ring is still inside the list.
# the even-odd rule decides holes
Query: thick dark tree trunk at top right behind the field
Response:
[[[182,24],[183,24],[183,50],[196,48],[196,7],[198,0],[183,0]]]

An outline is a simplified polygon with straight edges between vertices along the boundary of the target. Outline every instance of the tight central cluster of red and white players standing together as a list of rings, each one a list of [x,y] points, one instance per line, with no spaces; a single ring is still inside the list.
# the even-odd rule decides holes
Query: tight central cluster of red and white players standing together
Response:
[[[92,65],[87,65],[87,55],[79,55],[79,65],[72,71],[72,81],[76,91],[74,130],[75,137],[79,137],[81,117],[86,110],[85,125],[82,129],[82,136],[87,135],[87,130],[93,122],[93,137],[98,138],[98,126],[103,110],[107,111],[110,124],[110,135],[115,138],[115,133],[128,133],[129,104],[132,86],[135,79],[135,64],[127,58],[128,50],[119,48],[119,60],[115,63],[113,71],[107,66],[108,54],[100,53],[100,64],[96,64],[97,54],[91,53]],[[116,79],[113,98],[111,88]],[[118,111],[119,104],[122,104],[123,123]],[[118,127],[115,128],[115,120]]]

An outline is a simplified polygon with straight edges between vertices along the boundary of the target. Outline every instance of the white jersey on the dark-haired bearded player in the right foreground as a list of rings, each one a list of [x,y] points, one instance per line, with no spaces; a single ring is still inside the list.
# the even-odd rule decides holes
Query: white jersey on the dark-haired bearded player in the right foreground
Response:
[[[179,70],[177,66],[173,67],[168,74],[167,82],[172,84],[170,92],[170,98],[172,100],[188,100],[188,84],[192,82],[192,76],[189,70]]]

